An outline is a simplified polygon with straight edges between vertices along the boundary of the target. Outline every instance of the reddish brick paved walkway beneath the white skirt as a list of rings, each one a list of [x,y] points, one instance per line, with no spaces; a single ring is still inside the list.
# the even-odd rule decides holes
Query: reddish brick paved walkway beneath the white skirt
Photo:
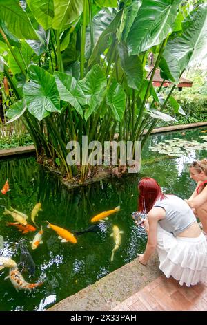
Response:
[[[111,310],[207,311],[207,282],[188,288],[161,275]]]

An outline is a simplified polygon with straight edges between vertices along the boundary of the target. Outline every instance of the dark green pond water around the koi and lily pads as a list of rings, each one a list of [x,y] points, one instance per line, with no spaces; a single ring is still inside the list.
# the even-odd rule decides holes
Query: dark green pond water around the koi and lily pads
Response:
[[[201,130],[190,129],[184,131],[185,135],[174,132],[152,136],[144,147],[139,176],[103,180],[70,191],[39,166],[34,157],[1,161],[0,187],[8,178],[11,189],[4,196],[0,194],[0,234],[5,241],[1,254],[11,256],[19,263],[17,243],[23,238],[36,263],[36,272],[32,276],[27,272],[22,275],[30,283],[44,281],[44,284],[32,291],[17,292],[10,279],[4,280],[8,275],[8,269],[4,268],[0,271],[0,310],[45,310],[132,261],[137,253],[144,252],[146,234],[143,229],[137,228],[131,217],[131,213],[137,210],[138,178],[156,178],[164,192],[188,198],[195,188],[188,173],[188,164],[207,156],[205,150],[192,150],[188,156],[168,158],[148,150],[148,146],[175,137],[203,142],[199,136],[206,133],[201,133]],[[6,223],[13,222],[13,219],[3,215],[3,207],[12,206],[30,215],[37,202],[41,202],[43,208],[36,219],[37,224],[43,226],[43,244],[32,250],[30,241],[36,232],[23,235],[17,228],[7,226]],[[77,244],[61,243],[56,232],[46,228],[48,220],[70,231],[84,230],[92,225],[92,216],[118,205],[122,209],[120,212],[109,216],[97,232],[77,236]],[[114,247],[110,236],[113,225],[124,233],[121,234],[121,245],[115,252],[114,261],[110,261]]]

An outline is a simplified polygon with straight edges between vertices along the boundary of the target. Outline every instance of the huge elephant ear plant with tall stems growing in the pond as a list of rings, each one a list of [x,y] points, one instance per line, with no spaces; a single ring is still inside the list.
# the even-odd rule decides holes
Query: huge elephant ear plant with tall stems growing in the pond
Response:
[[[206,55],[207,6],[197,1],[189,12],[188,5],[0,0],[0,67],[14,93],[8,122],[23,121],[39,162],[83,183],[92,167],[82,153],[79,165],[68,165],[68,142],[81,146],[88,136],[102,146],[116,139],[143,148],[157,120],[173,120],[161,111],[167,102],[177,110],[179,77]],[[157,68],[172,83],[167,94],[164,82],[153,86]]]

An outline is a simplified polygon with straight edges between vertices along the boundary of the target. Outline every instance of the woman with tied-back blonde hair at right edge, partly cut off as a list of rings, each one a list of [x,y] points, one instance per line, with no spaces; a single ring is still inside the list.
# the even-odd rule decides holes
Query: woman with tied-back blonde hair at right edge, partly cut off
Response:
[[[193,161],[190,165],[190,178],[197,187],[188,200],[185,200],[201,221],[207,239],[207,159]]]

